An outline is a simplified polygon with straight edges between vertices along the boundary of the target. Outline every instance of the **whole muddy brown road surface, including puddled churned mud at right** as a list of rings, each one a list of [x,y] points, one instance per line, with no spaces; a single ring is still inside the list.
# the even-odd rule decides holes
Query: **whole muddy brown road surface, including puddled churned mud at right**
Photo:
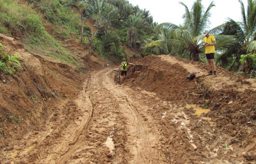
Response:
[[[116,85],[112,70],[91,72],[76,99],[61,102],[44,130],[32,131],[5,149],[1,162],[247,164],[244,155],[255,145],[241,147],[231,133],[224,134],[203,117],[210,110]]]

